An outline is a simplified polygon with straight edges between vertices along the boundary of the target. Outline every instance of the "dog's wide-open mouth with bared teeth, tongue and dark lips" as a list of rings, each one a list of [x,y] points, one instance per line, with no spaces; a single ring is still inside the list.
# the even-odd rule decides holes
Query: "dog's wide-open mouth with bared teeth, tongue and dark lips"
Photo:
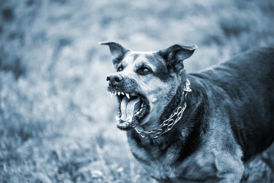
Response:
[[[141,93],[126,93],[124,91],[110,90],[111,97],[118,99],[118,115],[116,126],[120,130],[132,130],[141,124],[143,118],[149,113],[148,99]]]

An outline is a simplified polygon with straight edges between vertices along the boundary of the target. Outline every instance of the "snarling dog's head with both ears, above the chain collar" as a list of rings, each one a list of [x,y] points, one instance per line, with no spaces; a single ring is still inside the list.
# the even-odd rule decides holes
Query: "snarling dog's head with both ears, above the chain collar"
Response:
[[[108,91],[118,99],[116,124],[121,130],[159,121],[182,84],[183,60],[197,49],[196,45],[175,44],[158,52],[134,52],[115,42],[99,44],[109,46],[117,71],[107,81]]]

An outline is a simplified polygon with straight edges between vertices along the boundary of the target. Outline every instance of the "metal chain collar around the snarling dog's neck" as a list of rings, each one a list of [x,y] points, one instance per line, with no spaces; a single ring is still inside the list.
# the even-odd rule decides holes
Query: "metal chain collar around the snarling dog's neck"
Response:
[[[172,129],[172,127],[181,119],[182,114],[184,110],[186,109],[186,96],[188,92],[191,92],[192,90],[189,88],[190,82],[188,79],[186,79],[186,85],[184,86],[184,106],[181,107],[179,106],[177,110],[175,110],[174,113],[172,113],[168,119],[166,119],[161,125],[159,125],[158,128],[153,128],[149,131],[143,131],[135,128],[137,133],[140,134],[141,137],[143,138],[148,138],[151,137],[153,139],[158,138],[159,136],[163,135],[164,133],[168,132],[169,130]],[[173,117],[177,115],[176,120],[173,119]]]

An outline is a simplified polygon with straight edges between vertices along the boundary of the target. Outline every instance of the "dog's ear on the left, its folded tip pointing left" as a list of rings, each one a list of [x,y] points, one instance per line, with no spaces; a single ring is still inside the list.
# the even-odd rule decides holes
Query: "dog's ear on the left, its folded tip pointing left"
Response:
[[[128,48],[125,48],[116,42],[105,41],[99,42],[98,44],[106,44],[109,46],[112,63],[115,69],[117,68],[118,64],[123,60],[126,53],[130,51]]]

